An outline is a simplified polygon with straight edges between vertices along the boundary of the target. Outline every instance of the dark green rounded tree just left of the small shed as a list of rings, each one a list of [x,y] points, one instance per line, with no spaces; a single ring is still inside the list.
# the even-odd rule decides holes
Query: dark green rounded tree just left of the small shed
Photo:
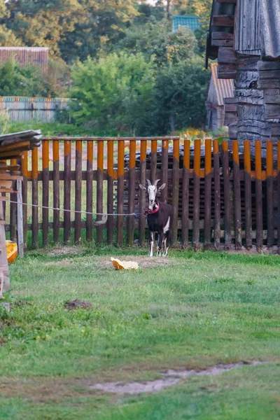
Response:
[[[209,71],[200,57],[167,66],[158,73],[153,93],[151,125],[158,134],[201,127],[205,118],[205,98]]]

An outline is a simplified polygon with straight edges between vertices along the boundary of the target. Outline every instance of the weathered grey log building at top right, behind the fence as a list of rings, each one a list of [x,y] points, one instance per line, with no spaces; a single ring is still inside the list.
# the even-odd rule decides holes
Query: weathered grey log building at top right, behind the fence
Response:
[[[218,78],[234,79],[225,99],[230,139],[280,137],[280,1],[214,0],[206,66],[218,59]]]

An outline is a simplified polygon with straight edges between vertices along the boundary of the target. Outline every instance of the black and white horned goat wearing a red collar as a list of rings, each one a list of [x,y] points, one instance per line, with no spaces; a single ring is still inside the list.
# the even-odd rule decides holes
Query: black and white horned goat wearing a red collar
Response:
[[[154,233],[158,232],[158,254],[161,255],[162,244],[164,244],[163,256],[167,256],[169,248],[169,242],[172,235],[172,223],[173,223],[173,207],[165,202],[159,202],[157,195],[163,188],[165,183],[157,188],[157,184],[160,179],[157,179],[153,185],[151,181],[147,179],[148,190],[145,186],[139,184],[141,190],[148,192],[148,209],[146,210],[148,230],[149,230],[149,244],[150,251],[149,256],[153,257],[153,238]]]

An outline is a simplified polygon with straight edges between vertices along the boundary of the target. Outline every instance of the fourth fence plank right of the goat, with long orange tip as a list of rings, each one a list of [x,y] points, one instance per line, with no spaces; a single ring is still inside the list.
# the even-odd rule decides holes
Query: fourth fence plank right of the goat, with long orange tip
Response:
[[[212,140],[205,140],[205,213],[204,213],[204,247],[211,244],[211,181],[212,181]]]

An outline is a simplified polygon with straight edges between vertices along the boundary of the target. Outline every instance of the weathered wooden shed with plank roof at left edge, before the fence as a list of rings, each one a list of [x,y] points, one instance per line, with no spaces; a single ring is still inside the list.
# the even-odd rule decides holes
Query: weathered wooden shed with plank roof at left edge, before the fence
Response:
[[[40,139],[41,132],[32,130],[0,136],[0,297],[10,288],[6,253],[5,202],[9,199],[17,201],[16,183],[25,181],[20,176],[18,160],[22,152],[38,147]],[[13,206],[13,209],[15,209],[15,217],[12,216],[13,220],[10,223],[13,223],[12,228],[16,233],[17,208]]]

